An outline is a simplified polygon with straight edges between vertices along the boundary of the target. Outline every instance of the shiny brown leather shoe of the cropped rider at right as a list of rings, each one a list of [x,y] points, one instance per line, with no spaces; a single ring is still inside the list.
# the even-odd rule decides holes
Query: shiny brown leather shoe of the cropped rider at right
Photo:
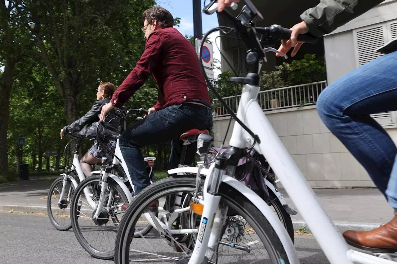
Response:
[[[397,252],[397,213],[387,224],[371,231],[347,230],[343,237],[353,247],[375,252]]]

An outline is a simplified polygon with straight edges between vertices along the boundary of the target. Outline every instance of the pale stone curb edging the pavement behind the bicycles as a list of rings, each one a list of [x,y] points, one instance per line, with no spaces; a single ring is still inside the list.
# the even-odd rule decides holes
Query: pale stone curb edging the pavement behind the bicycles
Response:
[[[46,206],[35,206],[35,205],[11,205],[11,204],[0,204],[0,210],[10,211],[15,210],[18,212],[33,212],[33,213],[47,213]],[[306,222],[302,220],[292,220],[294,231],[297,231],[301,227],[306,227],[306,231],[311,233],[310,228],[306,225]],[[339,232],[343,233],[346,230],[357,230],[357,231],[369,231],[381,226],[377,223],[359,223],[359,222],[333,222]]]

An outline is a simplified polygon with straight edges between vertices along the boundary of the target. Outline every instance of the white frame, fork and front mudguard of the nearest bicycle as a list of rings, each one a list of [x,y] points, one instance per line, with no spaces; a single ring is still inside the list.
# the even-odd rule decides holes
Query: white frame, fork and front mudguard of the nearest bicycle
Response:
[[[259,67],[260,69],[260,67]],[[259,92],[258,86],[243,85],[241,99],[238,105],[237,117],[256,135],[258,135],[261,143],[256,143],[254,149],[264,155],[279,181],[285,188],[289,197],[297,207],[299,213],[306,221],[307,226],[312,231],[318,244],[324,251],[326,257],[331,264],[392,264],[390,260],[379,258],[370,254],[360,253],[353,249],[349,249],[342,235],[333,225],[330,217],[326,214],[314,194],[311,187],[307,184],[306,179],[300,172],[299,168],[285,149],[281,140],[274,131],[272,125],[268,121],[262,108],[257,102]],[[235,122],[233,132],[229,142],[230,146],[244,149],[251,146],[254,139],[249,135],[240,124]],[[170,170],[170,174],[181,172],[196,172],[198,168],[185,167]],[[214,164],[210,166],[208,171],[201,170],[201,174],[207,175],[204,184],[203,199],[199,202],[204,205],[202,212],[201,224],[198,230],[203,231],[202,239],[197,239],[195,249],[189,260],[189,264],[201,264],[207,249],[211,249],[219,239],[219,232],[216,230],[219,225],[208,225],[207,223],[219,223],[221,215],[218,209],[220,196],[208,193],[208,186],[213,183],[214,178],[222,176],[222,182],[230,185],[242,195],[247,197],[260,212],[270,222],[276,231],[284,249],[287,253],[289,263],[297,264],[299,259],[294,249],[293,243],[279,221],[278,217],[269,208],[265,201],[254,193],[249,187],[241,184],[230,176],[223,175],[224,171],[214,168]],[[218,174],[218,175],[214,175]],[[214,218],[214,214],[216,216]],[[214,218],[214,219],[213,219]],[[216,228],[217,227],[217,228]],[[207,255],[208,256],[208,255]]]

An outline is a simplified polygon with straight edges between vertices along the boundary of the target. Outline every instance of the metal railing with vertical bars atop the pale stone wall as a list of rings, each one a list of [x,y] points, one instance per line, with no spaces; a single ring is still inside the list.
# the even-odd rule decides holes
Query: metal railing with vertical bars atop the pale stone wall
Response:
[[[318,95],[327,87],[327,81],[312,82],[308,84],[282,87],[272,90],[260,91],[258,93],[258,103],[263,111],[285,109],[290,107],[302,107],[315,105]],[[240,96],[224,97],[224,101],[235,113],[240,101]],[[214,118],[230,115],[218,99],[212,101],[212,111]]]

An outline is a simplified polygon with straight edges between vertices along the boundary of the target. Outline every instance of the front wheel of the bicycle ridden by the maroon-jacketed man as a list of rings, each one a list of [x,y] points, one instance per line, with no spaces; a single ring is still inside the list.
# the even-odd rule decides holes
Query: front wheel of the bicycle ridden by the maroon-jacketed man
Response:
[[[84,189],[89,197],[86,197]],[[118,184],[109,178],[101,213],[93,219],[100,191],[99,174],[86,178],[77,186],[71,204],[71,224],[77,241],[85,251],[95,258],[112,259],[116,232],[124,213],[121,205],[128,203],[128,200]]]

